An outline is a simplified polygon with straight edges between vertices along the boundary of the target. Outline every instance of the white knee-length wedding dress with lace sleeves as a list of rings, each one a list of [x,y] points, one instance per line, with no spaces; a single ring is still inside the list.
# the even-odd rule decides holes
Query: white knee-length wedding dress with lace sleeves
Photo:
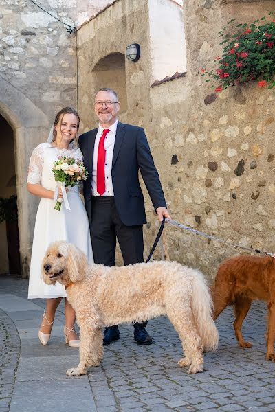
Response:
[[[46,189],[54,190],[57,182],[54,180],[52,167],[58,156],[83,160],[83,154],[79,148],[66,150],[53,147],[50,143],[39,144],[30,158],[28,183],[39,183]],[[78,194],[78,185],[69,189],[67,198],[71,210],[65,208],[64,202],[60,211],[54,209],[56,201],[49,198],[41,198],[39,203],[32,244],[29,299],[66,296],[63,285],[58,282],[55,285],[47,285],[43,282],[41,275],[41,263],[51,242],[66,240],[74,243],[87,255],[89,263],[94,262],[89,222],[85,207]]]

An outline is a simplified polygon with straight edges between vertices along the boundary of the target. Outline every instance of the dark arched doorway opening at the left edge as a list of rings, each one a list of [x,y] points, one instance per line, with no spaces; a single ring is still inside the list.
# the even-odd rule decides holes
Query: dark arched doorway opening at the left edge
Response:
[[[1,115],[0,130],[0,274],[20,274],[14,132]]]

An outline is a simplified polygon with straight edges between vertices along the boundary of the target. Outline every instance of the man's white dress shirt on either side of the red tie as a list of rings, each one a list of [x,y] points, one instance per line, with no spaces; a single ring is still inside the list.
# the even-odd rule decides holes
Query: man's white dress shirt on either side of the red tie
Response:
[[[106,150],[105,158],[105,192],[102,196],[113,196],[113,182],[111,177],[111,168],[113,163],[113,148],[115,146],[115,134],[116,128],[118,126],[118,120],[112,124],[109,128],[109,133],[107,133],[104,140],[104,148]],[[93,196],[100,196],[96,190],[96,173],[98,168],[98,144],[100,137],[102,136],[104,128],[98,126],[98,133],[96,134],[96,140],[94,145],[94,161],[93,161],[93,175],[91,179],[91,194]]]

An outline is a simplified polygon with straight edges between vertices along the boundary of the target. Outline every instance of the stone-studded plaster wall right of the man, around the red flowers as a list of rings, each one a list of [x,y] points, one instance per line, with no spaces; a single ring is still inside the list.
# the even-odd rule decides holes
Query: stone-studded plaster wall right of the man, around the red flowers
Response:
[[[227,89],[205,104],[213,89],[199,69],[221,54],[218,32],[231,18],[249,23],[271,10],[273,1],[185,2],[187,77],[151,90],[155,121],[149,133],[173,217],[267,251],[275,251],[274,91],[251,84]],[[158,124],[160,139],[154,131]],[[199,266],[210,277],[221,260],[241,253],[173,227],[168,239],[172,258]]]

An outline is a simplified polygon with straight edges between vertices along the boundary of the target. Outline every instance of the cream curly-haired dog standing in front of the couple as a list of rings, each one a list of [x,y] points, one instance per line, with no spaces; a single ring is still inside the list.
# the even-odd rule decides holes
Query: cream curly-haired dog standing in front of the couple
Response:
[[[73,244],[54,242],[42,265],[46,284],[65,285],[80,326],[80,363],[67,375],[87,374],[103,356],[101,328],[167,314],[179,334],[188,373],[203,370],[203,350],[216,350],[219,334],[212,320],[212,301],[201,272],[177,262],[133,266],[88,266]]]

